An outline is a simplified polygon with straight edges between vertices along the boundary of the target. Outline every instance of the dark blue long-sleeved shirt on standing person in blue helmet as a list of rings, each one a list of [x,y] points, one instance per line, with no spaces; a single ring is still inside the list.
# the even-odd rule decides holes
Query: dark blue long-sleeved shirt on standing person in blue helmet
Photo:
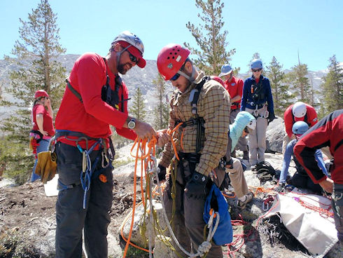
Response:
[[[260,76],[260,81],[262,87],[260,91],[260,97],[258,100],[253,100],[253,93],[251,93],[251,86],[253,85],[255,78],[252,76],[244,81],[243,86],[243,96],[241,97],[241,111],[244,111],[246,108],[255,109],[258,105],[258,109],[262,108],[263,104],[267,102],[269,114],[274,114],[274,102],[272,97],[272,89],[270,88],[269,79],[267,77]]]

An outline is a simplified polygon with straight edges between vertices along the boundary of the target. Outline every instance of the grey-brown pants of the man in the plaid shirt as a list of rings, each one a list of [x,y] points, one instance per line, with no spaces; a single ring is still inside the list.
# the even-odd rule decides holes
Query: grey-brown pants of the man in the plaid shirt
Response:
[[[204,242],[204,226],[205,222],[202,218],[204,212],[204,199],[188,198],[184,194],[186,178],[183,175],[190,175],[188,161],[183,160],[184,171],[181,171],[181,165],[178,165],[176,172],[175,189],[175,210],[173,212],[173,199],[172,199],[172,179],[169,176],[167,186],[163,193],[163,201],[169,221],[172,219],[172,229],[174,234],[181,244],[181,246],[190,252],[191,246],[197,251],[199,245]],[[173,215],[174,214],[174,215]],[[188,257],[184,254],[179,247],[173,242],[176,251],[181,255],[180,257]],[[178,257],[176,254],[174,257]],[[220,245],[212,243],[212,247],[207,254],[208,258],[221,258],[223,252]]]

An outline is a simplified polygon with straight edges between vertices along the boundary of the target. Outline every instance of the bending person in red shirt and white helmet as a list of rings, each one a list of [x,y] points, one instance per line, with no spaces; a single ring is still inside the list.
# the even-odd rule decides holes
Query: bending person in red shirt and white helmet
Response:
[[[282,153],[285,153],[286,146],[290,140],[295,139],[292,133],[293,124],[297,121],[304,121],[311,128],[318,122],[317,113],[314,107],[303,102],[295,102],[291,104],[283,114],[285,121],[286,135],[283,137]]]

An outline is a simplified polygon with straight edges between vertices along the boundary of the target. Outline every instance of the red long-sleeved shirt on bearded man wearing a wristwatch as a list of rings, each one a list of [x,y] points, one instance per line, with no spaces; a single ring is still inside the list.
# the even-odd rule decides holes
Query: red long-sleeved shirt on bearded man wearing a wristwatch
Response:
[[[71,130],[90,137],[107,138],[111,135],[109,125],[113,125],[119,135],[131,140],[136,138],[133,130],[123,128],[127,119],[127,101],[123,102],[124,112],[121,112],[102,100],[102,86],[106,84],[106,71],[110,78],[111,89],[114,90],[116,75],[111,72],[107,62],[105,64],[103,57],[95,53],[85,53],[76,60],[71,69],[69,82],[80,93],[83,102],[80,102],[76,95],[66,87],[56,116],[57,130]],[[124,99],[127,99],[128,90],[125,83],[119,89],[119,97],[122,93]],[[121,104],[119,103],[119,110],[121,110]],[[61,139],[61,142],[75,145],[64,139]]]

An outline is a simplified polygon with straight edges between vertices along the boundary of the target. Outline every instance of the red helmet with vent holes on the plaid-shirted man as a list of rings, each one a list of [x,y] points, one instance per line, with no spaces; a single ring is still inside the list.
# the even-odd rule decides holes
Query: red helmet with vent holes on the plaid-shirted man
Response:
[[[190,50],[182,46],[170,43],[158,54],[158,72],[162,75],[165,81],[169,81],[186,61]]]

